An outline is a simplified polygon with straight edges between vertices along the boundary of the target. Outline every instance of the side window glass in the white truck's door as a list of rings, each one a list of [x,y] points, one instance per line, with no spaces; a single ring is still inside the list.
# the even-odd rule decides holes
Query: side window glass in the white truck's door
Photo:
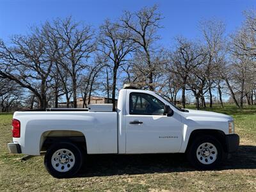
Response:
[[[131,93],[129,98],[131,115],[163,115],[164,103],[147,93]]]

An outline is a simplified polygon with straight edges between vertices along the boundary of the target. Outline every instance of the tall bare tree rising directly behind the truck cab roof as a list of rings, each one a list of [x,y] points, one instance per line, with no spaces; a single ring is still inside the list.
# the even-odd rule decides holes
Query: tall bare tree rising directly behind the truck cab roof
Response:
[[[157,63],[154,61],[153,54],[156,55],[156,46],[154,44],[159,40],[157,29],[161,28],[159,22],[163,19],[157,12],[157,6],[151,8],[142,8],[138,12],[126,11],[121,17],[121,27],[132,31],[131,40],[136,44],[137,56],[143,67],[137,65],[140,74],[145,76],[146,84],[149,90],[154,90],[154,75],[157,74]],[[142,63],[141,63],[142,64]],[[147,81],[148,80],[148,81]]]

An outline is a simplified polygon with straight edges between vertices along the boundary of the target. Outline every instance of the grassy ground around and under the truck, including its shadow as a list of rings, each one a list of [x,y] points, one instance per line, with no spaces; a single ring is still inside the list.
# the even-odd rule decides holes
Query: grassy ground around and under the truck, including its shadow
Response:
[[[44,157],[20,161],[9,154],[12,115],[0,115],[0,191],[255,191],[256,108],[234,106],[206,110],[234,116],[241,147],[220,169],[198,172],[182,154],[88,156],[72,179],[55,179]]]

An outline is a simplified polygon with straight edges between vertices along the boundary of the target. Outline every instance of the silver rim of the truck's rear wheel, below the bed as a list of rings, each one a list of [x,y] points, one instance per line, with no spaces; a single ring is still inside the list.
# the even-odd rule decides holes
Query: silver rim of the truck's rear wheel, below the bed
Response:
[[[56,150],[52,154],[52,167],[58,172],[68,172],[75,164],[74,154],[67,148]]]

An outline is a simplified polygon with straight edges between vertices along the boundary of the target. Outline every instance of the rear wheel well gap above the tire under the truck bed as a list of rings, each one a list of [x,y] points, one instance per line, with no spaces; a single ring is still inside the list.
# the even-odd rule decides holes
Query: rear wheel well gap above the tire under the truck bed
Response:
[[[63,141],[74,143],[83,150],[83,152],[87,152],[84,134],[79,131],[65,130],[44,132],[40,140],[40,151],[46,151],[52,144]]]

